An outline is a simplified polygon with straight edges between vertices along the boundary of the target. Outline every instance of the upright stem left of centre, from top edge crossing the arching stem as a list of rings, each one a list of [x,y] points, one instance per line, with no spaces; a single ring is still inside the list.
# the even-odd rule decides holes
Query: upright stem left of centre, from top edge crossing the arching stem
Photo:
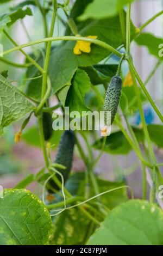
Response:
[[[53,0],[53,16],[52,16],[52,22],[51,22],[51,29],[50,29],[50,32],[49,32],[49,38],[51,38],[53,36],[56,14],[57,14],[57,1]],[[52,46],[52,41],[48,41],[47,50],[46,50],[46,57],[45,57],[45,64],[44,64],[44,67],[43,67],[44,74],[43,74],[43,78],[42,78],[41,99],[43,99],[43,97],[46,93],[47,72],[48,72],[49,58],[50,58],[50,54],[51,54],[51,46]]]

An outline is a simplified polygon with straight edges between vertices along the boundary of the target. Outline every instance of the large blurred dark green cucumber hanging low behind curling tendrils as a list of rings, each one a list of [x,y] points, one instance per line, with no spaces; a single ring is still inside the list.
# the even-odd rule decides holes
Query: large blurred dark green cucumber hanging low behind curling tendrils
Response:
[[[56,168],[63,176],[64,176],[64,182],[68,179],[68,176],[71,171],[72,167],[72,161],[73,161],[73,149],[74,149],[74,132],[73,131],[64,131],[64,133],[61,136],[59,147],[58,147],[58,153],[55,157],[54,163],[62,164],[62,166],[65,166],[66,169],[60,169]],[[61,181],[60,175],[56,174],[57,178]],[[59,187],[53,179],[50,179],[48,181],[48,185],[53,187],[55,190],[59,190]],[[49,187],[47,186],[47,188]],[[53,192],[51,189],[48,188],[49,192]]]

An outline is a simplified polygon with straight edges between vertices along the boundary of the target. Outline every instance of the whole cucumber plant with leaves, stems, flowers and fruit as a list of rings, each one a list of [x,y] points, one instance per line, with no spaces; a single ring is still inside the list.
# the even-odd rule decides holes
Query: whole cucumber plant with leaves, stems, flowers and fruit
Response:
[[[43,159],[37,173],[0,191],[0,245],[163,245],[163,163],[158,163],[155,150],[163,148],[163,115],[146,87],[162,64],[163,41],[143,32],[163,11],[137,28],[131,21],[134,0],[115,2],[0,2],[1,147],[9,143],[14,130],[15,143],[33,141]],[[23,31],[17,39],[19,25]],[[133,62],[132,42],[146,46],[158,58],[145,83]],[[158,124],[148,122],[145,103]],[[85,112],[93,111],[104,111],[104,123],[111,126],[109,136],[106,127],[100,138],[95,127],[86,131],[77,124]],[[75,120],[74,112],[79,115]],[[140,122],[133,125],[137,114]],[[66,128],[53,129],[57,120]],[[26,149],[23,143],[20,147]],[[136,165],[122,170],[117,162],[130,151],[136,154]],[[105,173],[112,171],[115,180],[102,179],[95,172],[104,152],[116,157],[116,161],[109,158],[116,162],[115,168],[104,165]],[[80,172],[73,172],[73,160]],[[126,176],[138,166],[142,194],[134,199]],[[35,194],[28,190],[33,182]]]

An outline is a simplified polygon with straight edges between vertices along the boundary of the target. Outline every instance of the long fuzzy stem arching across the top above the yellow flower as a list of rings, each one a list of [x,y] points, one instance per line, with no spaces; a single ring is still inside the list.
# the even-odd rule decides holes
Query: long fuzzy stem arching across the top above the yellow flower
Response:
[[[21,50],[22,48],[26,48],[28,46],[36,45],[36,44],[41,44],[42,42],[48,42],[48,41],[85,41],[85,42],[91,42],[92,44],[101,46],[108,50],[109,52],[112,52],[116,54],[118,57],[122,57],[122,54],[118,52],[114,47],[106,44],[106,42],[97,40],[97,39],[91,39],[91,38],[85,38],[84,36],[54,36],[51,38],[43,38],[43,39],[38,39],[32,42],[27,42],[26,44],[23,45],[18,45],[14,48],[11,48],[7,51],[3,52],[3,56],[6,54],[9,54],[11,52],[15,52],[18,50]]]

